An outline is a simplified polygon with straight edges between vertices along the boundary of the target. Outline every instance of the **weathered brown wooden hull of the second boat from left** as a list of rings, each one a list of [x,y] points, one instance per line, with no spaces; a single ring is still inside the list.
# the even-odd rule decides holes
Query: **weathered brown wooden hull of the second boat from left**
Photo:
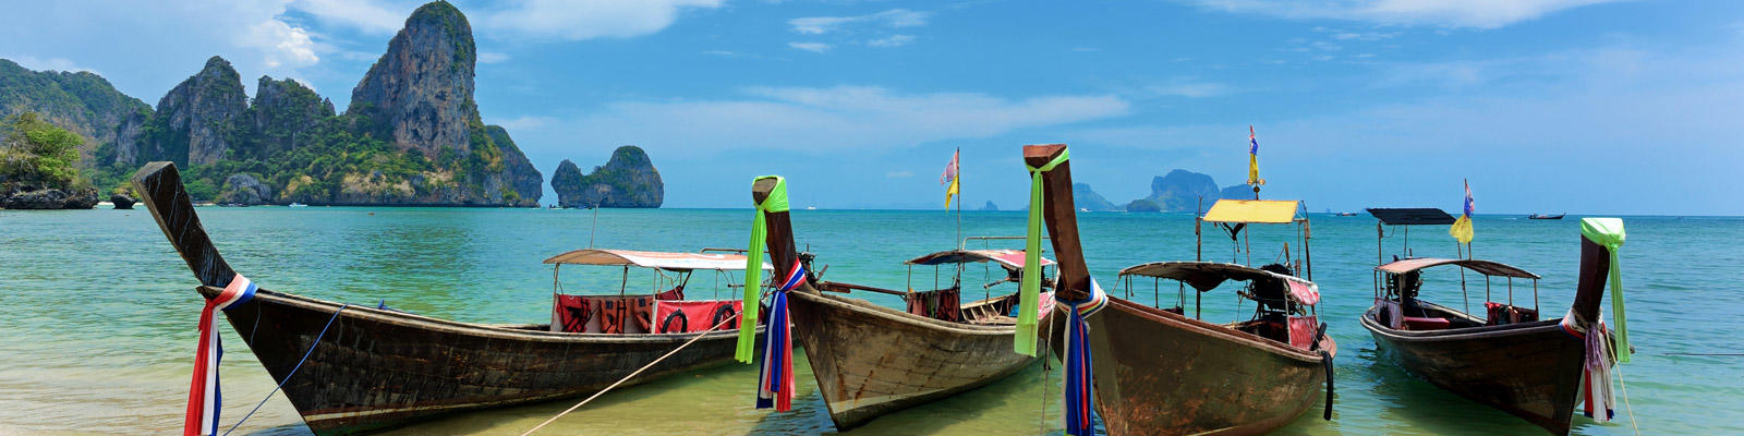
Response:
[[[865,300],[795,291],[794,337],[835,429],[970,391],[1036,361],[1012,351],[1012,324],[959,324]]]

